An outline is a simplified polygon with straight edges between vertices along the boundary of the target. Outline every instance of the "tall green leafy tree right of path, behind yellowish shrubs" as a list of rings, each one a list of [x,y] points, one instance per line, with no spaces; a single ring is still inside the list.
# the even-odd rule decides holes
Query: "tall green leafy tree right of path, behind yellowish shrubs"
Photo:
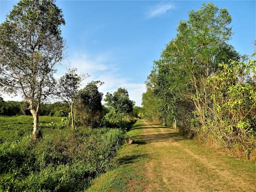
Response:
[[[195,107],[191,97],[199,94],[200,80],[212,75],[219,62],[240,58],[227,43],[230,22],[227,9],[213,3],[203,3],[198,10],[189,11],[188,20],[179,22],[177,35],[154,61],[147,81],[147,90],[159,99],[160,118],[178,119],[182,127],[189,126]],[[144,99],[146,95],[150,94]]]

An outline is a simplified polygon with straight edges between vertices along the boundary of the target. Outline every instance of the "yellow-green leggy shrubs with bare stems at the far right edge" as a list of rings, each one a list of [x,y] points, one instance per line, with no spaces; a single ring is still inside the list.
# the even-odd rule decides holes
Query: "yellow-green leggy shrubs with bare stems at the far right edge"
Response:
[[[238,147],[247,158],[256,148],[256,61],[230,60],[220,63],[222,70],[202,79],[193,96],[193,131],[200,141],[227,148]],[[211,137],[209,137],[211,135]]]

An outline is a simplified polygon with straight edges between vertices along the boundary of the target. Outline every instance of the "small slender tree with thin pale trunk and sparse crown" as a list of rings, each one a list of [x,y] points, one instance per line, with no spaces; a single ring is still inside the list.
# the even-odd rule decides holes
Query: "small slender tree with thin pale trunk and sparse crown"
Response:
[[[77,97],[81,81],[85,78],[83,74],[76,74],[76,70],[76,68],[68,69],[58,80],[58,95],[70,107],[72,129],[74,129],[74,101]]]

